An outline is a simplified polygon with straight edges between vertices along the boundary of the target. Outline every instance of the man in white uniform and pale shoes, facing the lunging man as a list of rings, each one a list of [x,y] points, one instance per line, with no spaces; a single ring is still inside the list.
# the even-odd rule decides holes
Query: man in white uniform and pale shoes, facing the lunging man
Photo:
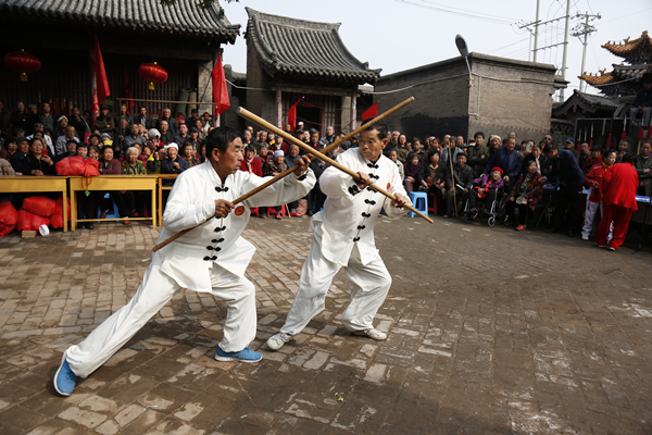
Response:
[[[280,349],[324,310],[326,293],[340,268],[344,268],[351,286],[351,303],[342,313],[342,323],[354,335],[387,338],[373,324],[391,286],[391,276],[376,249],[374,225],[381,209],[398,217],[408,211],[402,206],[411,203],[396,163],[383,156],[388,141],[387,127],[369,126],[360,135],[359,148],[338,156],[338,163],[358,172],[361,182],[333,166],[319,177],[328,199],[311,221],[314,238],[299,289],[285,325],[267,340],[271,349]],[[396,203],[366,187],[371,184],[393,194]]]

